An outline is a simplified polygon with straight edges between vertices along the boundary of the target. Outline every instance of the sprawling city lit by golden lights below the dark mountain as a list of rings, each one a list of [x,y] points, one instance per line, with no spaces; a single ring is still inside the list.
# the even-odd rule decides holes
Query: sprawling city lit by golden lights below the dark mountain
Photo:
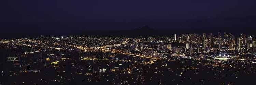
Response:
[[[1,84],[251,84],[255,37],[217,32],[1,39]]]

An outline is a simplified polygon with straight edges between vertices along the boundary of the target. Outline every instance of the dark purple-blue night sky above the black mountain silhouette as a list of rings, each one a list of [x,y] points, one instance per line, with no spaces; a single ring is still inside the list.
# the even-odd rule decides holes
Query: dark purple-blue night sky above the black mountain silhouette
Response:
[[[5,33],[256,28],[256,0],[6,0]]]

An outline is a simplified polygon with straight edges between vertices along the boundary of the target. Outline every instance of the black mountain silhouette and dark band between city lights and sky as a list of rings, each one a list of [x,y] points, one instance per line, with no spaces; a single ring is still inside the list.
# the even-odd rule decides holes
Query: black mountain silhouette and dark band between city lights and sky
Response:
[[[21,32],[12,32],[12,33],[1,33],[0,38],[2,39],[11,39],[11,38],[23,38],[23,37],[45,37],[45,36],[99,36],[99,37],[110,37],[110,36],[124,36],[124,37],[138,37],[138,36],[171,36],[173,34],[203,34],[203,33],[212,33],[213,36],[218,35],[218,32],[224,34],[224,32],[239,36],[240,34],[248,34],[250,36],[255,36],[253,29],[176,29],[176,30],[157,30],[152,29],[150,26],[144,26],[141,28],[136,28],[132,30],[76,30],[76,31],[30,31],[24,30]],[[10,35],[12,34],[12,35]]]

